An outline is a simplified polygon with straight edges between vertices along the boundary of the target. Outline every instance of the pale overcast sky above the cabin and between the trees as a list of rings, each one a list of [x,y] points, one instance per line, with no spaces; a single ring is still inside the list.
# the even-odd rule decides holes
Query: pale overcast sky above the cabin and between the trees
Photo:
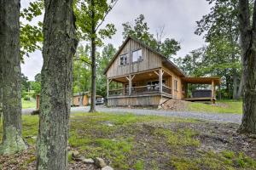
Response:
[[[29,2],[29,0],[21,0],[21,8],[25,8]],[[182,48],[177,56],[183,57],[193,49],[204,45],[202,37],[194,34],[195,21],[201,20],[202,15],[208,14],[209,11],[210,7],[206,0],[119,0],[105,22],[113,23],[117,32],[105,43],[113,43],[115,48],[119,48],[123,42],[122,24],[127,21],[133,22],[139,14],[144,14],[151,33],[155,34],[160,26],[165,26],[165,36],[181,42]],[[43,16],[37,20],[43,20]],[[42,54],[36,51],[30,55],[30,58],[25,59],[21,71],[29,80],[33,80],[41,71],[42,65]]]

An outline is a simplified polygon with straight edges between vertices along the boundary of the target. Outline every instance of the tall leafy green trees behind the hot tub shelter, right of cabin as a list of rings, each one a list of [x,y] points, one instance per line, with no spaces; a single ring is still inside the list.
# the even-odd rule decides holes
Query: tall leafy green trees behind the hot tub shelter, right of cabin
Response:
[[[238,0],[207,2],[211,11],[196,22],[195,30],[196,35],[204,37],[207,46],[176,61],[189,76],[221,77],[222,96],[236,98],[236,84],[241,82]]]

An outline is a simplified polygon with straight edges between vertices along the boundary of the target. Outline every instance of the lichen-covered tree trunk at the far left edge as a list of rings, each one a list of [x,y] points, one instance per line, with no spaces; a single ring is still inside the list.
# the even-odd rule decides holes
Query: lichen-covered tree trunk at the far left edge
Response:
[[[3,77],[3,139],[0,154],[26,150],[21,138],[19,18],[19,0],[0,0],[0,63]]]

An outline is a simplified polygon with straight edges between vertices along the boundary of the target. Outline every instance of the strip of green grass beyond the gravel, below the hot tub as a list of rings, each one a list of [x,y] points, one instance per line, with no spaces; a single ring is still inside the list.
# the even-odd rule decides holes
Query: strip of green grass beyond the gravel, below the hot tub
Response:
[[[189,111],[201,111],[209,113],[242,113],[242,102],[232,100],[221,100],[216,102],[217,105],[208,105],[203,103],[191,102],[188,105]]]

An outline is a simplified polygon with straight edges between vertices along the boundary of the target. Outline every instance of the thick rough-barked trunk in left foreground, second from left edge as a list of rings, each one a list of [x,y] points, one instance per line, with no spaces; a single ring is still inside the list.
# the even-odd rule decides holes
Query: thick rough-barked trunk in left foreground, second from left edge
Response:
[[[67,169],[73,55],[77,47],[73,0],[45,0],[44,65],[37,169]]]

